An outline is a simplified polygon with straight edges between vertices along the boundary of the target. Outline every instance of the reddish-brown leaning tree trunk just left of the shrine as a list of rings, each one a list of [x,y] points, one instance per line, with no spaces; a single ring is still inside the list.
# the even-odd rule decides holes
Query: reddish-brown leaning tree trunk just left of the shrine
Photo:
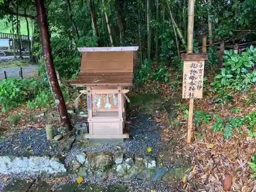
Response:
[[[37,12],[37,24],[41,33],[42,53],[44,54],[46,72],[47,72],[50,88],[52,90],[55,102],[57,104],[57,109],[59,112],[59,121],[62,126],[67,127],[66,131],[71,131],[72,130],[71,121],[68,116],[66,103],[64,101],[62,92],[60,90],[54,65],[53,65],[52,48],[51,48],[51,41],[50,41],[44,0],[35,0],[35,6],[36,6],[36,12]]]

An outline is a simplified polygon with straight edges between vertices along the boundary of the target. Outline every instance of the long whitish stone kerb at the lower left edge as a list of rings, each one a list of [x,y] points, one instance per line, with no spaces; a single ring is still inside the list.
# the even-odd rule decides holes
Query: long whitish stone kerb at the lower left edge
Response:
[[[0,173],[25,174],[32,176],[66,174],[65,166],[50,157],[0,156]]]

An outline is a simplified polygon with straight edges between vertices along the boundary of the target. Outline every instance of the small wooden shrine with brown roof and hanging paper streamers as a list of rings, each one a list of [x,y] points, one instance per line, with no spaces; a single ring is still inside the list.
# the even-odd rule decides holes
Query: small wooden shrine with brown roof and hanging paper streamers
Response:
[[[72,86],[87,87],[89,134],[84,138],[129,138],[125,133],[125,88],[132,85],[138,47],[78,48],[80,74]]]

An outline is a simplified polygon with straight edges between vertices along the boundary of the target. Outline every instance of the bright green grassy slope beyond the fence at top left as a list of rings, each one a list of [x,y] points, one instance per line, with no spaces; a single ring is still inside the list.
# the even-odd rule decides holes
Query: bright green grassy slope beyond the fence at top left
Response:
[[[30,24],[30,20],[29,20]],[[32,34],[31,27],[30,28],[30,34]],[[12,29],[12,24],[7,22],[6,18],[0,19],[0,33],[10,33]],[[20,18],[20,34],[21,35],[27,35],[27,24],[25,18]]]

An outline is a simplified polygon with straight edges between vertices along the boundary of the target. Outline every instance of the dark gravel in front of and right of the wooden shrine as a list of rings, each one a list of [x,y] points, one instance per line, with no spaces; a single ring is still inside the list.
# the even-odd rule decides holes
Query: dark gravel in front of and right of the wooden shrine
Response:
[[[77,154],[84,151],[87,153],[95,153],[102,151],[116,152],[117,146],[121,147],[124,153],[136,155],[156,156],[160,147],[164,144],[160,142],[161,128],[156,122],[148,116],[139,116],[131,118],[130,139],[125,140],[123,144],[89,144],[88,147],[78,148],[74,143],[71,151],[67,154],[65,164],[68,165]],[[151,147],[152,151],[147,152],[147,148]]]

